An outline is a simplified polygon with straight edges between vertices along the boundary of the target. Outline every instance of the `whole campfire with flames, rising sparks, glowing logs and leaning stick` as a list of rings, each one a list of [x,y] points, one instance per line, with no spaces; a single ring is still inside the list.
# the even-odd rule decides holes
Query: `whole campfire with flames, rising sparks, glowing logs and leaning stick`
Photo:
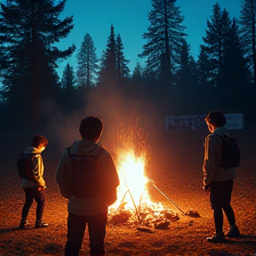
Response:
[[[179,214],[160,202],[151,201],[148,186],[155,187],[167,199],[168,196],[147,176],[147,136],[140,128],[138,118],[135,121],[133,118],[129,127],[128,132],[127,128],[126,132],[124,129],[117,132],[117,140],[122,142],[121,147],[115,150],[118,152],[116,168],[120,185],[117,188],[116,203],[109,207],[108,220],[113,225],[136,225],[139,230],[148,232],[148,228],[168,228],[172,221],[180,220]]]

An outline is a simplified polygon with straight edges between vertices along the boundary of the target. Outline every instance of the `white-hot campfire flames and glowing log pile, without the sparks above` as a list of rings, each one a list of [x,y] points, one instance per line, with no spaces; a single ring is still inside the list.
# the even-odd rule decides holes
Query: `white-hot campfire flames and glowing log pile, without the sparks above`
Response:
[[[109,221],[114,225],[135,224],[141,230],[142,227],[168,228],[171,221],[179,220],[177,213],[151,201],[148,194],[151,180],[145,175],[146,159],[132,151],[121,152],[119,157],[120,186],[116,203],[109,207]]]

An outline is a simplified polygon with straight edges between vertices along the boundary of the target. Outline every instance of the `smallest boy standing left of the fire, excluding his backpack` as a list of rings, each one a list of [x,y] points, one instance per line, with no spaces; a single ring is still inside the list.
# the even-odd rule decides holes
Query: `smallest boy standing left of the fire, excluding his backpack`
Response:
[[[28,228],[30,223],[28,221],[28,212],[30,206],[33,204],[33,199],[36,201],[36,224],[35,228],[45,228],[48,226],[45,223],[43,218],[44,213],[44,188],[45,181],[43,178],[44,175],[44,163],[41,153],[48,145],[48,140],[44,138],[42,135],[36,135],[32,139],[32,145],[28,147],[24,154],[31,155],[32,157],[28,158],[27,168],[29,169],[29,173],[31,173],[31,177],[28,179],[22,179],[20,188],[24,189],[26,195],[26,202],[23,205],[21,220],[20,220],[20,228]]]

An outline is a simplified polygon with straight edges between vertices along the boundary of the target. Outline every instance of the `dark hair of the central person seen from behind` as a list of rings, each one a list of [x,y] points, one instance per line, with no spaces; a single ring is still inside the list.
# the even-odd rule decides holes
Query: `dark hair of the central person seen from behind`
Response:
[[[97,116],[86,116],[80,124],[79,132],[83,139],[94,140],[100,136],[103,122]]]

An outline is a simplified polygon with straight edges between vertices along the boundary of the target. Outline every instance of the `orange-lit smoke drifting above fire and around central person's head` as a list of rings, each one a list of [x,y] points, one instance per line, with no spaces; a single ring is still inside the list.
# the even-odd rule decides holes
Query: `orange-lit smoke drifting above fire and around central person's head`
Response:
[[[130,95],[117,95],[106,90],[92,90],[86,95],[85,101],[86,108],[68,115],[51,100],[40,104],[42,115],[47,116],[48,120],[45,135],[53,141],[55,148],[62,151],[75,140],[81,140],[79,124],[84,116],[89,115],[99,116],[103,120],[104,131],[100,143],[111,154],[115,154],[116,148],[122,148],[128,142],[130,145],[126,146],[129,147],[150,147],[161,136],[159,126],[163,125],[164,118],[159,116],[156,108],[147,100],[134,100]],[[140,137],[142,133],[143,137]]]

